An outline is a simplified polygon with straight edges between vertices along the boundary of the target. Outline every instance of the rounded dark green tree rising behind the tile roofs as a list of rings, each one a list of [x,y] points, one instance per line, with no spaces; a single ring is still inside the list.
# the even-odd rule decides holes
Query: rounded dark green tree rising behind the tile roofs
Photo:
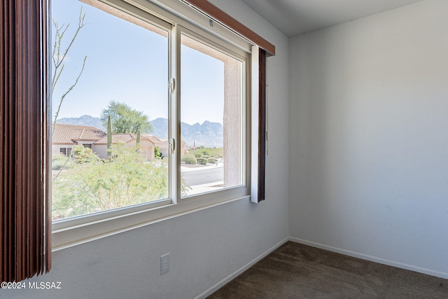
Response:
[[[132,109],[131,106],[116,101],[109,102],[109,106],[103,109],[101,120],[104,126],[107,125],[108,116],[111,116],[112,130],[114,133],[134,133],[141,130],[144,133],[150,133],[153,125],[148,116],[143,112]]]

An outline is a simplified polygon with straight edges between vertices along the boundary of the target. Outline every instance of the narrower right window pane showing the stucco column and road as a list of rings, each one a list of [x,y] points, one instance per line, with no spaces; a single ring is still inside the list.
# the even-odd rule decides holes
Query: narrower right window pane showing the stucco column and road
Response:
[[[186,195],[243,184],[243,63],[181,36],[181,174]]]

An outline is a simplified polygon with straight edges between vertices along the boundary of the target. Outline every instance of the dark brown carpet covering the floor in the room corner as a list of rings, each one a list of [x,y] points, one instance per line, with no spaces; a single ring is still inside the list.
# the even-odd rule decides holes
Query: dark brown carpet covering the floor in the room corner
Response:
[[[208,298],[448,298],[448,279],[286,242]]]

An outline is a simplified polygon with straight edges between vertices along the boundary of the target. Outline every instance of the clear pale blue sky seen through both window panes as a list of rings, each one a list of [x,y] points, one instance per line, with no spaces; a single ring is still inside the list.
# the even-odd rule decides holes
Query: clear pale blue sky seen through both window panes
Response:
[[[70,23],[63,45],[69,43],[78,25],[81,6],[86,25],[66,57],[64,73],[52,95],[53,116],[87,55],[83,75],[66,96],[59,118],[99,117],[111,100],[125,102],[151,120],[167,118],[167,38],[79,1],[53,0],[52,18],[59,26]],[[54,27],[52,30],[54,36]],[[187,47],[181,54],[181,121],[223,123],[223,63]]]

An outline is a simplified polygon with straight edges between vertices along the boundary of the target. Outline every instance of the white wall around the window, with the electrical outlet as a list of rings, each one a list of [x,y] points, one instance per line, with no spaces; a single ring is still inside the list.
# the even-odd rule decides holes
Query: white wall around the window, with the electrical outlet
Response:
[[[1,290],[1,298],[193,298],[288,238],[288,39],[239,0],[216,0],[275,44],[269,58],[265,202],[239,200],[57,251],[62,290]],[[160,275],[160,256],[171,270]]]

